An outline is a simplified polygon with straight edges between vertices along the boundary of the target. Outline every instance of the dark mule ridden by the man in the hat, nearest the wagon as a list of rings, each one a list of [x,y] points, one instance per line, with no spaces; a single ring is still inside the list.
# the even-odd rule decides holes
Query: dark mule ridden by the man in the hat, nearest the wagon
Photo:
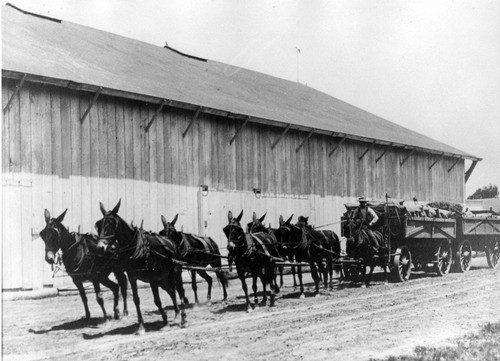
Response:
[[[350,236],[347,238],[347,256],[361,262],[361,273],[363,283],[361,287],[368,287],[376,266],[384,270],[384,282],[387,284],[387,265],[389,262],[387,248],[384,247],[384,237],[381,232],[370,230],[366,227],[351,227]],[[380,247],[378,252],[374,251],[373,243],[377,242]],[[367,274],[366,269],[370,267]]]

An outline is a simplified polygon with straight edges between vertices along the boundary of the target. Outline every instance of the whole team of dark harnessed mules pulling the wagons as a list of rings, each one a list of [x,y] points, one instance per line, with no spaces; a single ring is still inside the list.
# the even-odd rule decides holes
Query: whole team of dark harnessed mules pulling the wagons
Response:
[[[111,210],[106,210],[100,203],[103,218],[96,222],[97,236],[90,234],[70,233],[62,224],[66,211],[59,217],[51,218],[45,210],[46,226],[40,232],[45,242],[45,259],[54,263],[55,254],[60,250],[66,272],[71,276],[78,288],[85,308],[85,318],[90,319],[87,298],[83,288],[84,281],[91,281],[96,292],[97,302],[102,308],[104,319],[107,314],[104,308],[100,284],[108,287],[114,296],[114,317],[120,317],[118,307],[119,291],[123,296],[123,314],[127,315],[127,281],[128,276],[133,294],[133,301],[137,311],[137,333],[145,331],[144,319],[140,308],[140,299],[137,291],[137,281],[149,283],[155,305],[162,316],[163,324],[167,325],[167,314],[162,307],[159,288],[170,296],[175,317],[180,314],[180,326],[187,323],[185,306],[188,300],[182,283],[182,269],[190,270],[195,303],[198,303],[196,274],[199,274],[208,283],[207,303],[211,300],[212,277],[207,271],[214,271],[223,289],[223,300],[227,298],[227,271],[224,270],[222,259],[227,258],[228,269],[233,266],[245,294],[246,309],[251,312],[259,305],[257,281],[262,283],[262,302],[267,304],[270,292],[269,305],[273,306],[276,294],[283,286],[283,266],[291,266],[296,286],[295,272],[297,271],[299,297],[304,297],[302,281],[302,267],[308,266],[314,281],[314,294],[320,292],[323,281],[325,289],[332,286],[335,260],[340,259],[340,240],[332,231],[320,231],[308,224],[307,217],[299,217],[298,222],[292,224],[293,215],[284,221],[280,216],[278,228],[266,228],[263,224],[265,214],[261,218],[253,213],[252,222],[246,229],[241,226],[243,211],[233,217],[228,213],[228,224],[223,228],[227,237],[227,256],[222,256],[217,243],[210,237],[202,237],[178,231],[175,228],[178,215],[171,222],[164,216],[161,220],[164,228],[156,233],[143,230],[142,224],[136,227],[128,224],[119,215],[120,201]],[[347,242],[347,252],[350,257],[362,261],[366,266],[381,265],[384,263],[376,259],[370,251],[370,237],[378,236],[375,232],[366,232],[362,229],[353,234]],[[210,266],[210,268],[208,268]],[[365,266],[365,268],[366,268]],[[276,280],[280,271],[280,283]],[[385,267],[384,267],[385,271]],[[370,275],[371,275],[370,272]],[[109,279],[113,273],[118,284]],[[252,278],[254,303],[250,302],[246,278]],[[366,284],[369,278],[365,280]],[[177,301],[177,294],[180,302]]]

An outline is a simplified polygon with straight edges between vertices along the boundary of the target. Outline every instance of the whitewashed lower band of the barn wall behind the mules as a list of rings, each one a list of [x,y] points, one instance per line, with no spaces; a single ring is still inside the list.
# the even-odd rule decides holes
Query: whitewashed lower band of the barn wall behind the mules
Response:
[[[340,232],[343,204],[354,200],[317,195],[263,194],[253,192],[210,189],[202,196],[198,187],[159,184],[131,179],[99,179],[9,173],[2,178],[2,254],[3,289],[38,289],[57,286],[62,281],[53,278],[51,267],[44,261],[44,244],[38,233],[45,227],[44,209],[57,216],[66,208],[64,225],[70,231],[94,231],[101,219],[99,202],[106,209],[122,200],[120,216],[127,222],[139,224],[152,231],[162,229],[161,215],[168,220],[179,213],[178,229],[211,236],[226,254],[226,239],[222,228],[227,224],[231,210],[238,215],[244,210],[242,222],[252,219],[252,212],[260,217],[265,212],[266,225],[278,225],[280,214],[287,218],[294,214],[309,216],[313,225],[334,223],[324,229]]]

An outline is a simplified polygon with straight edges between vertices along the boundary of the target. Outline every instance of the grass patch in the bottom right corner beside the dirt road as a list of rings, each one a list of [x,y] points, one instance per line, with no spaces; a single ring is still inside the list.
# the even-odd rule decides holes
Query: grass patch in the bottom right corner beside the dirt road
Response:
[[[390,356],[385,361],[497,361],[500,360],[500,322],[486,324],[478,333],[456,340],[453,347],[417,346],[414,355]],[[382,361],[382,359],[370,359]]]

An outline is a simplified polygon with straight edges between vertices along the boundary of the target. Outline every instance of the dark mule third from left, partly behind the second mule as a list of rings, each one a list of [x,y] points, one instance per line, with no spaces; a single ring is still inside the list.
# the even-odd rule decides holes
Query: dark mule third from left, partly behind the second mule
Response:
[[[173,240],[178,247],[178,254],[181,259],[191,266],[207,267],[211,266],[218,270],[215,271],[217,279],[222,285],[224,294],[224,301],[227,299],[227,279],[224,272],[221,270],[222,261],[221,254],[217,243],[210,237],[201,237],[190,233],[179,232],[175,229],[175,222],[177,222],[178,214],[174,217],[172,222],[167,222],[164,216],[161,216],[164,229],[160,231],[160,235],[166,236]],[[194,292],[194,302],[198,301],[198,287],[196,284],[196,274],[199,274],[208,283],[207,290],[207,303],[212,299],[212,277],[208,275],[205,270],[192,269],[191,270],[191,286]],[[187,301],[187,300],[185,300]]]

